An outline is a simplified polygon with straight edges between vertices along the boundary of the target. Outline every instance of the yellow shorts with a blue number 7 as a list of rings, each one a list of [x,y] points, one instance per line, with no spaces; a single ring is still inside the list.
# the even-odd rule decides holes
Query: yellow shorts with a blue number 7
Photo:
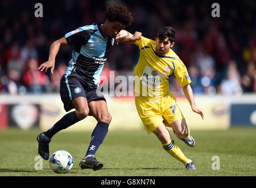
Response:
[[[184,119],[172,93],[159,99],[136,96],[135,105],[147,134],[152,133],[161,122],[170,127],[170,123]]]

